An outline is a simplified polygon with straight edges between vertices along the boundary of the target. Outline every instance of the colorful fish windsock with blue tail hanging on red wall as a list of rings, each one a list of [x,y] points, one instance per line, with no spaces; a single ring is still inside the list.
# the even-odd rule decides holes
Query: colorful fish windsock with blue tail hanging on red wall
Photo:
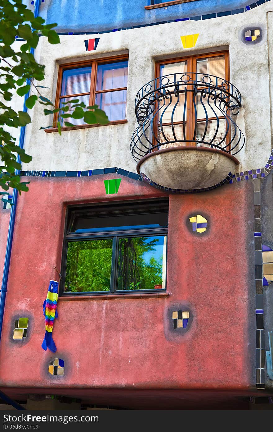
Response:
[[[45,316],[46,332],[42,343],[42,348],[46,351],[47,348],[53,353],[56,351],[56,345],[52,339],[53,322],[55,318],[58,318],[58,312],[56,310],[58,302],[58,285],[59,282],[56,280],[50,280],[47,291],[47,298],[43,303],[43,312]]]

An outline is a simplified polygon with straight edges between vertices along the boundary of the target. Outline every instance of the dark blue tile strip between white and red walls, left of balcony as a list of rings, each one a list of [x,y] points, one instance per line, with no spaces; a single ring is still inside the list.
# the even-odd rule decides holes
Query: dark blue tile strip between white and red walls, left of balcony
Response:
[[[21,171],[22,177],[90,177],[92,175],[103,174],[119,174],[124,177],[132,178],[136,181],[142,181],[142,178],[136,172],[127,171],[126,169],[112,167],[100,169],[87,169],[83,171],[42,171],[42,170],[28,170]]]

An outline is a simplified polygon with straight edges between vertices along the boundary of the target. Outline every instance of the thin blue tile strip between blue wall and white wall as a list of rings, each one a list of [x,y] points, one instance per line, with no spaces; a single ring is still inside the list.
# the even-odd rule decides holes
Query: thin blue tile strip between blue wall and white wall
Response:
[[[227,10],[225,12],[216,12],[216,13],[207,13],[204,15],[198,15],[198,16],[191,16],[189,18],[178,18],[178,19],[169,19],[168,21],[158,21],[158,22],[150,22],[148,24],[141,24],[141,25],[132,25],[130,27],[121,27],[119,29],[112,29],[112,30],[104,30],[102,32],[65,32],[65,33],[58,33],[60,36],[64,35],[103,35],[104,33],[113,33],[113,32],[120,32],[122,30],[131,30],[131,29],[140,29],[143,27],[150,27],[151,25],[160,25],[160,24],[167,24],[169,22],[179,22],[179,21],[204,21],[205,19],[213,19],[213,18],[221,18],[223,16],[229,16],[229,15],[238,15],[238,13],[245,13],[249,10],[254,9],[257,6],[260,6],[264,3],[267,3],[271,0],[257,0],[256,2],[251,3],[248,6],[239,8],[239,9],[233,9],[233,10]],[[39,35],[42,36],[42,35]],[[24,39],[16,37],[17,41],[23,41]]]

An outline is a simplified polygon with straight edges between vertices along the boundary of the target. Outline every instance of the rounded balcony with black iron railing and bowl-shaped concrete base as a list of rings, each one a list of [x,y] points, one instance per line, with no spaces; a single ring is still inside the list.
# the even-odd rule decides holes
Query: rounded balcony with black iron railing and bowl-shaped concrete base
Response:
[[[135,98],[130,146],[138,173],[174,192],[223,184],[245,144],[235,123],[241,106],[239,90],[217,76],[173,73],[145,84]]]

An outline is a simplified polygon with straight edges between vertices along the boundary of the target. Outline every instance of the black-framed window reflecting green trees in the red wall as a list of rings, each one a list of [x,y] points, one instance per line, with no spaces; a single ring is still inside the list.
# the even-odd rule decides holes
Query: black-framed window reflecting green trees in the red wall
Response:
[[[69,206],[61,294],[166,290],[168,200]]]

